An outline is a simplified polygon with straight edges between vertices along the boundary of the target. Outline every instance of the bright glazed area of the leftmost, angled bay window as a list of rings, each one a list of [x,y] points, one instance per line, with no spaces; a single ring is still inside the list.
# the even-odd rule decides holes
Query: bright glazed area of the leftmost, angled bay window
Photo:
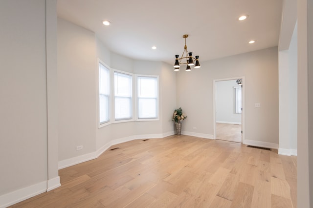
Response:
[[[99,116],[100,124],[110,121],[109,114],[110,96],[110,70],[99,62]]]

